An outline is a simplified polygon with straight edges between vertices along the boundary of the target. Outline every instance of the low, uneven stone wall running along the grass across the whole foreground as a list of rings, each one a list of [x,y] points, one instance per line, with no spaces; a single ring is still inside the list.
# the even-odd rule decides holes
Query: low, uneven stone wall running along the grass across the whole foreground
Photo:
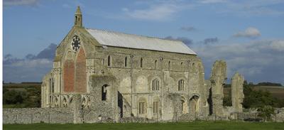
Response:
[[[244,120],[256,119],[256,109],[249,109],[248,112],[237,112],[231,114],[231,119]],[[275,115],[276,114],[276,115]],[[284,108],[276,108],[275,114],[272,115],[271,121],[284,122]],[[98,117],[98,115],[100,115]],[[156,119],[146,119],[138,117],[124,117],[119,120],[109,118],[107,114],[99,114],[97,111],[80,112],[78,117],[75,117],[74,109],[72,108],[4,108],[3,109],[3,124],[35,124],[35,123],[50,123],[50,124],[67,124],[75,123],[75,118],[80,120],[79,123],[153,123],[165,122]],[[198,119],[198,118],[197,118]],[[82,120],[82,121],[81,121]],[[170,121],[193,121],[195,120],[192,114],[183,114],[178,119]],[[208,116],[201,120],[230,120],[230,117],[214,117]]]

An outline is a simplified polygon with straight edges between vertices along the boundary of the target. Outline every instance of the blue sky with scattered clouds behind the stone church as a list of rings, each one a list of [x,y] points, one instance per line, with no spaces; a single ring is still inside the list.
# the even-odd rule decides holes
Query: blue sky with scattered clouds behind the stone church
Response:
[[[86,28],[185,41],[202,58],[207,77],[214,60],[224,59],[228,78],[238,71],[252,82],[284,83],[283,0],[4,0],[4,81],[40,81],[44,74],[33,71],[48,72],[52,58],[38,53],[66,36],[76,6]],[[23,68],[15,78],[12,71]]]

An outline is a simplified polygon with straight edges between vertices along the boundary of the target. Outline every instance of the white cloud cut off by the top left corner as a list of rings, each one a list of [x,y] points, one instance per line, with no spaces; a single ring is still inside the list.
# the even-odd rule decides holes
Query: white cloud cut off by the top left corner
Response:
[[[4,0],[4,6],[35,5],[38,0]]]

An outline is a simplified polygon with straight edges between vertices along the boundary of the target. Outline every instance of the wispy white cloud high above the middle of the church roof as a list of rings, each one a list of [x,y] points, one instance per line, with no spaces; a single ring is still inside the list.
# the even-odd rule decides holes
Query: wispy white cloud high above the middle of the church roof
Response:
[[[126,16],[131,18],[148,20],[148,21],[164,21],[173,18],[173,14],[178,11],[178,6],[173,4],[158,4],[150,6],[147,9],[122,9]]]

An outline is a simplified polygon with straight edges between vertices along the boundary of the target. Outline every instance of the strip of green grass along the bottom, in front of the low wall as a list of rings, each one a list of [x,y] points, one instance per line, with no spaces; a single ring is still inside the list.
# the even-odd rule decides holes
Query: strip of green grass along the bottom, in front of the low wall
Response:
[[[268,129],[284,129],[284,123],[251,123],[251,122],[236,122],[236,121],[195,121],[190,123],[153,123],[153,124],[4,124],[3,129],[236,129],[236,130],[268,130]]]

